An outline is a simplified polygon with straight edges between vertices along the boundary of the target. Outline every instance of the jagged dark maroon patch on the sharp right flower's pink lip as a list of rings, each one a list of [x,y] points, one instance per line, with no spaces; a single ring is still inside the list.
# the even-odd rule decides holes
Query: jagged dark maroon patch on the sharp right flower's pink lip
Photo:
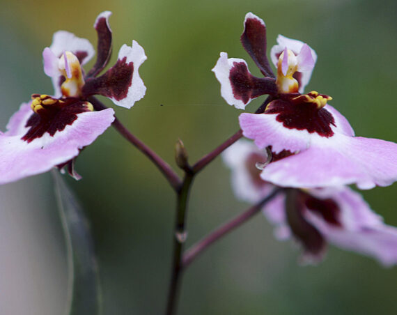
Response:
[[[293,104],[286,100],[274,100],[267,105],[264,114],[278,114],[277,121],[289,129],[317,132],[322,137],[332,137],[335,125],[334,117],[325,108],[318,109],[316,104],[299,102]]]

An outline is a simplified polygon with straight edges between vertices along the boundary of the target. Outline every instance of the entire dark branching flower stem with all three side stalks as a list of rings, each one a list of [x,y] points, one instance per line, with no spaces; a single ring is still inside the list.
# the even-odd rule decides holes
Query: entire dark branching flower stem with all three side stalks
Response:
[[[100,102],[97,98],[93,96],[88,98],[88,100],[93,104],[95,110],[107,109],[107,107],[102,102]],[[256,114],[264,112],[266,105],[271,100],[272,96],[269,96],[265,100],[265,102],[263,102],[263,104],[258,108]],[[173,315],[176,312],[182,269],[188,266],[189,263],[192,262],[196,258],[196,256],[198,256],[198,254],[203,252],[205,248],[210,246],[212,243],[214,243],[216,240],[224,236],[235,227],[240,226],[240,224],[247,221],[254,214],[258,213],[261,206],[263,206],[263,204],[272,199],[272,197],[274,197],[277,192],[279,192],[279,190],[275,190],[274,192],[272,192],[272,194],[270,194],[269,197],[266,197],[265,199],[260,201],[260,203],[258,203],[256,206],[249,208],[245,213],[242,213],[242,215],[239,215],[235,219],[231,220],[231,222],[224,224],[224,226],[221,226],[218,230],[210,233],[207,238],[204,238],[199,243],[197,243],[197,245],[194,245],[192,249],[190,249],[185,255],[182,256],[183,245],[187,237],[187,231],[185,230],[187,204],[189,201],[189,191],[190,187],[192,186],[194,176],[196,176],[199,171],[201,171],[210,162],[212,162],[215,157],[217,157],[224,150],[226,150],[226,148],[234,144],[235,141],[238,141],[238,139],[242,137],[242,130],[238,130],[238,132],[235,132],[233,136],[226,139],[226,141],[224,141],[221,145],[215,148],[214,151],[203,156],[200,160],[198,160],[198,162],[196,162],[196,164],[194,164],[193,167],[190,167],[189,164],[187,164],[187,161],[185,161],[186,164],[184,165],[184,167],[181,167],[185,171],[185,178],[182,181],[175,173],[175,171],[171,169],[168,163],[162,160],[159,155],[152,151],[141,140],[132,135],[130,130],[125,128],[125,126],[120,123],[116,116],[112,125],[120,133],[120,135],[127,139],[127,141],[129,141],[131,144],[136,146],[139,151],[146,155],[156,165],[156,167],[162,172],[162,174],[169,181],[177,194],[176,225],[173,238],[172,275],[169,286],[169,297],[166,307],[166,315]]]

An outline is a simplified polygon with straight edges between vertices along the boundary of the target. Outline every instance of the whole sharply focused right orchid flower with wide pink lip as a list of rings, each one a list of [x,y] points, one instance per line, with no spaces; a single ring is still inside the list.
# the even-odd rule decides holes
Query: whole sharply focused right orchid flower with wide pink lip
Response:
[[[302,94],[317,60],[309,45],[279,36],[270,51],[275,77],[266,57],[265,22],[248,13],[241,41],[265,77],[254,77],[244,60],[228,59],[224,52],[212,71],[229,105],[244,109],[260,95],[271,97],[265,112],[239,117],[244,137],[278,155],[263,169],[263,180],[283,187],[355,183],[360,189],[397,180],[397,144],[355,137],[347,119],[327,104],[330,96]]]

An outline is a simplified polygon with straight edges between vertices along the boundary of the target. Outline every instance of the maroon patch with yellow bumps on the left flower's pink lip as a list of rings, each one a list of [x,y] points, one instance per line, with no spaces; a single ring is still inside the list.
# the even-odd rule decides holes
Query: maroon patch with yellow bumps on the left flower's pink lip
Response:
[[[47,95],[40,104],[33,99],[33,114],[26,122],[25,127],[29,128],[22,140],[28,143],[42,137],[46,132],[52,137],[56,132],[62,131],[67,125],[77,119],[77,114],[90,112],[92,109],[88,102],[76,98],[54,99]],[[40,95],[32,95],[33,98],[40,98]],[[42,97],[43,98],[43,97]],[[32,106],[33,107],[33,106]]]

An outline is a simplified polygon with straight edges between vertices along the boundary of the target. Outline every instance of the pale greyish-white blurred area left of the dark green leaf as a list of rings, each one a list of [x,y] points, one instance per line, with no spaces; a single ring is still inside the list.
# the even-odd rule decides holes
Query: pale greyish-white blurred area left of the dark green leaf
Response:
[[[63,315],[65,309],[65,245],[45,177],[0,186],[1,315]]]

